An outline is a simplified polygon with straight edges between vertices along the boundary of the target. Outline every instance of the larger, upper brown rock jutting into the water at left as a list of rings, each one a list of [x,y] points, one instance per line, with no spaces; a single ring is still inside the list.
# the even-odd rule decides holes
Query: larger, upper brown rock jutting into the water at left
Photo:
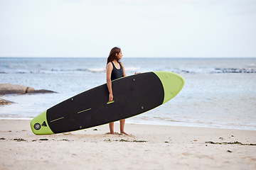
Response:
[[[42,94],[42,93],[55,93],[48,90],[35,90],[33,87],[22,86],[18,84],[0,84],[0,95],[4,94]]]

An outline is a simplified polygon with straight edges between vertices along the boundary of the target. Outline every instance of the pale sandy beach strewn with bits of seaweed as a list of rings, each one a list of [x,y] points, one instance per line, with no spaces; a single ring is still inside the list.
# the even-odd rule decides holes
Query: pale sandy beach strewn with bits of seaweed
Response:
[[[0,120],[0,169],[256,169],[256,131],[126,124],[33,135],[30,120]],[[119,132],[119,123],[115,123]]]

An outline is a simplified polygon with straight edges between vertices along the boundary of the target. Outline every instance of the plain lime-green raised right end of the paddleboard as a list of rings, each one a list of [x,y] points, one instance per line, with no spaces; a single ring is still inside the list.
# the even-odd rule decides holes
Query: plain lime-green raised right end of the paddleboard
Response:
[[[161,80],[161,83],[164,88],[164,102],[171,100],[174,98],[183,88],[185,84],[185,80],[181,75],[173,73],[173,72],[154,72],[157,77]]]

